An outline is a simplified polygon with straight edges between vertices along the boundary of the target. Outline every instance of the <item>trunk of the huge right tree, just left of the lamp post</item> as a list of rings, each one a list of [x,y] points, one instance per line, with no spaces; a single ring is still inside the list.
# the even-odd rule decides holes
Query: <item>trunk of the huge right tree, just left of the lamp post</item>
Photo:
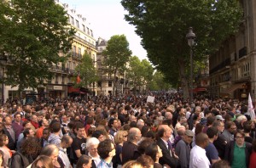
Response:
[[[181,87],[183,89],[183,98],[189,98],[189,84],[188,84],[188,77],[186,77],[185,73],[185,64],[183,59],[178,59],[179,65],[179,76],[181,78]]]

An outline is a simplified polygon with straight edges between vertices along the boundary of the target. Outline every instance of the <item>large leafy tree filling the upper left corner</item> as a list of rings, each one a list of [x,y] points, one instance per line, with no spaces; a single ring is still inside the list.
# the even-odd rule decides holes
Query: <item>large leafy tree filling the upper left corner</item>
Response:
[[[52,0],[0,2],[0,53],[10,61],[5,84],[36,88],[51,79],[53,64],[65,63],[74,35],[66,14]]]

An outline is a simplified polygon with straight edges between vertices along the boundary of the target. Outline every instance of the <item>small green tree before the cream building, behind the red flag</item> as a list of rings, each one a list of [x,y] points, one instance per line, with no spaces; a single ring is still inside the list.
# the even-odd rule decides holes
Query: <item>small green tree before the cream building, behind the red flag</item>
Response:
[[[99,80],[96,75],[96,68],[93,65],[93,60],[88,53],[84,53],[81,64],[75,68],[75,75],[80,78],[80,82],[77,82],[75,87],[87,88],[91,83]]]

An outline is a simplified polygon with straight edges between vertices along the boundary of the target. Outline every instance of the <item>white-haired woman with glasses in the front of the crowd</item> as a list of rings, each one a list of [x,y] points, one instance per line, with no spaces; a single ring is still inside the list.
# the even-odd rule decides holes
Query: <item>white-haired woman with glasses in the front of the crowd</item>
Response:
[[[100,155],[98,154],[98,145],[100,141],[96,137],[90,137],[86,142],[87,155],[92,159],[91,165],[96,167],[100,162]]]

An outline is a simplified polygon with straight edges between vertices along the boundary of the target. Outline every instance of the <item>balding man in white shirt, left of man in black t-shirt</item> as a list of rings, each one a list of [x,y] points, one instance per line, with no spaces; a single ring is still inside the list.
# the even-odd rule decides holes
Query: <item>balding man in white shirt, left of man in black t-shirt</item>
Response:
[[[71,144],[73,143],[73,138],[68,136],[68,135],[64,135],[61,138],[61,143],[59,146],[59,157],[62,161],[62,163],[65,165],[65,168],[71,168],[71,164],[70,161],[67,157],[67,148],[71,147]]]

